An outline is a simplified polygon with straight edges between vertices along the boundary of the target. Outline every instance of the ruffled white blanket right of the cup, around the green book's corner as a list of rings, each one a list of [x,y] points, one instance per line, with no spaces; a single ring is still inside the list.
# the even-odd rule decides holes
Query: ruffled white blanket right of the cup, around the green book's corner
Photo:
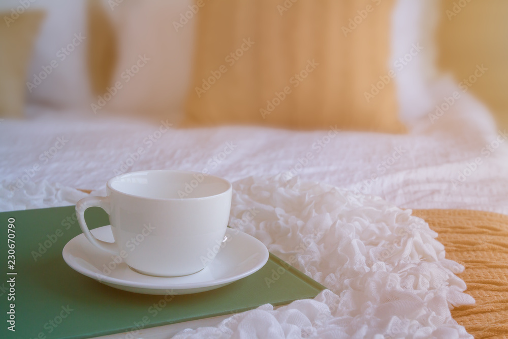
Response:
[[[177,338],[472,338],[450,314],[474,303],[455,275],[464,267],[444,258],[437,234],[410,210],[283,175],[234,188],[231,225],[329,290]]]

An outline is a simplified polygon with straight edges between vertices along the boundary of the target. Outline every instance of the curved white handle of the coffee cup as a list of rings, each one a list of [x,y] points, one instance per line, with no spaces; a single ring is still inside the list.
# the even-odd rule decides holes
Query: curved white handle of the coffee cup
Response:
[[[93,245],[97,246],[101,250],[104,250],[108,253],[119,254],[118,246],[116,242],[107,242],[97,239],[91,234],[88,226],[86,226],[84,213],[88,207],[101,207],[106,211],[106,213],[110,213],[110,204],[109,197],[86,197],[81,199],[76,203],[76,217],[78,218],[79,227],[83,231],[85,237],[90,241]]]

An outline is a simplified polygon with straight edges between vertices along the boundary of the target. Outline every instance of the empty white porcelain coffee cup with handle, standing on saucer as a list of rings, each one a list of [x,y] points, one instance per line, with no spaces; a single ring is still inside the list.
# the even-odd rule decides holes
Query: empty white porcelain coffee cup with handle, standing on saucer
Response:
[[[153,170],[115,176],[106,186],[107,197],[86,197],[76,204],[81,230],[101,250],[155,276],[193,274],[215,258],[229,221],[229,181],[198,172]],[[99,240],[88,230],[83,214],[92,206],[109,214],[114,242]]]

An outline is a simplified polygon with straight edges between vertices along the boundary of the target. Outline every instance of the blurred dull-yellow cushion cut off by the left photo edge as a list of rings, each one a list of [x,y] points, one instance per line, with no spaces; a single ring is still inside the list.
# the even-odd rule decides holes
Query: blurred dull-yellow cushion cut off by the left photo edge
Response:
[[[0,12],[0,18],[0,116],[21,118],[26,72],[44,12],[24,12],[15,18],[11,12]]]

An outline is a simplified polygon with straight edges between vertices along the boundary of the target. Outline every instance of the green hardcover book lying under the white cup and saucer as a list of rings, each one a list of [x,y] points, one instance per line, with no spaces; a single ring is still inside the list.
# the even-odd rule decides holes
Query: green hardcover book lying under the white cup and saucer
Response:
[[[85,219],[90,229],[109,225],[100,208],[89,208]],[[96,337],[283,305],[325,289],[270,254],[259,271],[219,289],[166,297],[125,292],[63,261],[63,246],[80,233],[74,206],[0,213],[0,337]]]

